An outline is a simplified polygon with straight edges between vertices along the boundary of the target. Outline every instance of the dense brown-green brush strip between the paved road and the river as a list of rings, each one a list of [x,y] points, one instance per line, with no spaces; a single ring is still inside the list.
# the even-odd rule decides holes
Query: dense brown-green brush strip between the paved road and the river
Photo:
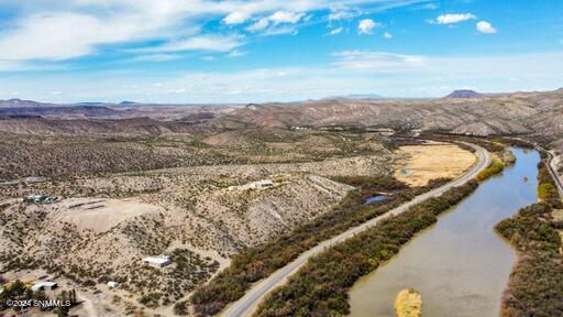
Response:
[[[412,206],[353,238],[311,258],[287,284],[271,293],[256,316],[343,316],[347,292],[362,276],[397,254],[400,247],[438,216],[472,194],[476,181]]]

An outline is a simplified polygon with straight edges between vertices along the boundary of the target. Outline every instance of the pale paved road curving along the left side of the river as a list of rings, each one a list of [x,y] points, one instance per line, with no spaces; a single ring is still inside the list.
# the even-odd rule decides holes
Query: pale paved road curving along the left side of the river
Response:
[[[490,162],[490,155],[489,153],[477,145],[466,143],[467,145],[475,149],[475,153],[477,154],[477,163],[473,166],[473,168],[467,172],[462,177],[452,181],[444,186],[441,186],[439,188],[435,188],[433,190],[430,190],[426,194],[422,194],[420,196],[415,197],[412,200],[393,209],[386,212],[385,215],[382,215],[379,217],[376,217],[367,222],[364,222],[357,227],[351,228],[347,231],[344,231],[343,233],[321,242],[317,247],[306,251],[302,253],[299,258],[294,260],[294,262],[290,262],[286,266],[277,270],[274,272],[269,277],[263,280],[258,284],[254,285],[249,292],[246,292],[246,295],[244,295],[241,299],[233,303],[231,306],[229,306],[221,316],[224,317],[243,317],[243,316],[251,316],[252,313],[256,309],[257,305],[262,302],[264,296],[272,292],[276,286],[279,286],[284,284],[287,281],[287,277],[291,274],[296,273],[299,267],[301,267],[307,260],[309,260],[311,256],[319,254],[321,251],[323,251],[325,248],[329,248],[331,245],[334,245],[336,243],[340,243],[354,234],[364,231],[375,225],[377,225],[383,219],[389,218],[390,216],[399,215],[401,212],[405,212],[409,207],[417,205],[428,198],[440,196],[442,193],[446,192],[448,189],[460,186],[465,184],[467,181],[474,178],[478,172],[481,172],[483,168],[487,167],[487,165]]]

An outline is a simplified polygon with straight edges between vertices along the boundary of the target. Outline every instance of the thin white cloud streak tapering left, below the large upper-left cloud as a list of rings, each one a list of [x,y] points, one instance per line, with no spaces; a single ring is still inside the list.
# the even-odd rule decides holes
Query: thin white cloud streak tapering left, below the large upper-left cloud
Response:
[[[230,36],[194,36],[187,40],[174,41],[161,46],[139,50],[141,52],[183,52],[183,51],[213,51],[229,52],[243,44],[240,35]]]

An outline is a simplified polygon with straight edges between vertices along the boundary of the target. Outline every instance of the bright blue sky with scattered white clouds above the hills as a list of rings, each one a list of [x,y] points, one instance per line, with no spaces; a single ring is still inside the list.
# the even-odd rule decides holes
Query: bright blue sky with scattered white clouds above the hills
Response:
[[[0,99],[262,102],[560,87],[560,0],[0,0]]]

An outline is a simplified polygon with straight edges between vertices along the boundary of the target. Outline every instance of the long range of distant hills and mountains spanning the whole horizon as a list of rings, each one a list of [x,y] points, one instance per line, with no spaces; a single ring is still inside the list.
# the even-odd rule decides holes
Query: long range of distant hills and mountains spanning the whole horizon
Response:
[[[132,101],[106,103],[108,106],[84,106],[93,102],[69,106],[10,99],[0,101],[0,117],[4,119],[0,121],[22,117],[64,120],[147,117],[157,121],[209,123],[200,125],[201,129],[240,124],[282,129],[295,125],[380,127],[478,135],[537,134],[542,139],[563,135],[563,89],[511,94],[479,94],[465,89],[434,99],[384,99],[375,96],[349,95],[346,98],[250,103],[246,107],[140,105]]]

